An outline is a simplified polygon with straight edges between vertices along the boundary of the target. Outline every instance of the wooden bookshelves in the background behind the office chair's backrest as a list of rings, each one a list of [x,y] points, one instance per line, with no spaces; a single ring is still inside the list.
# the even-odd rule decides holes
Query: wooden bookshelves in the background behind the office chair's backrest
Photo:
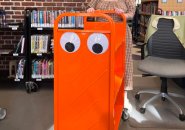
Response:
[[[178,3],[178,0],[167,0],[166,3],[163,0],[141,0],[139,5],[139,22],[138,22],[138,39],[143,38],[146,33],[148,21],[152,14],[159,14],[165,16],[185,16],[185,0]],[[137,41],[137,40],[136,40]],[[142,41],[143,42],[143,41]]]

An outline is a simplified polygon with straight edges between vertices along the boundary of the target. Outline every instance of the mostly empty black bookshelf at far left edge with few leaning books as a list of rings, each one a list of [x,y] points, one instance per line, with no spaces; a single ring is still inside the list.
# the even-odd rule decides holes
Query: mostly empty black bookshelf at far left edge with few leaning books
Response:
[[[22,32],[24,32],[23,24],[6,23],[0,26],[0,30],[2,32],[11,32],[12,35],[14,34],[14,31],[16,31],[16,35],[18,35],[17,32],[20,32],[20,39],[13,48],[0,48],[1,63],[5,63],[5,69],[1,70],[2,76],[0,77],[0,80],[13,82],[25,81],[26,41],[25,35],[21,35]],[[3,38],[3,35],[1,36],[1,38]],[[12,39],[9,40],[11,41]]]

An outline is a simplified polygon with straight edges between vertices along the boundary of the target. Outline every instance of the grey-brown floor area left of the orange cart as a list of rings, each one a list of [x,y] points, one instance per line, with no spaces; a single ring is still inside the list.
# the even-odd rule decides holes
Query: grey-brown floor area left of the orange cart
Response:
[[[0,107],[7,109],[0,130],[48,130],[53,124],[53,89],[44,86],[27,94],[19,87],[1,84]]]

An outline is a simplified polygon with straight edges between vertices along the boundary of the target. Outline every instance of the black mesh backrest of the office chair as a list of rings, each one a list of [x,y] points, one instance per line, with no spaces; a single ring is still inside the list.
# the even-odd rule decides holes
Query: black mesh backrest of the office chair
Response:
[[[174,21],[160,18],[157,28],[148,40],[148,54],[161,58],[185,59],[185,49],[173,32]]]

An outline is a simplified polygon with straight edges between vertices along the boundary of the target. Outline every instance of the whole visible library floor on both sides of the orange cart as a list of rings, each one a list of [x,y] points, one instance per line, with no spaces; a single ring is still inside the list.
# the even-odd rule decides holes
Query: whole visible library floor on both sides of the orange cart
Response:
[[[136,102],[134,94],[143,88],[159,89],[158,77],[141,77],[137,68],[140,60],[139,49],[133,48],[134,90],[128,93],[130,102],[128,121],[120,123],[119,130],[185,130],[185,122],[178,119],[177,110],[167,101],[157,100],[148,106],[145,114],[138,112],[141,102]],[[170,91],[185,95],[185,90],[169,80]],[[144,101],[151,97],[141,97]],[[184,99],[176,99],[184,107]],[[0,130],[52,130],[53,125],[53,88],[43,85],[36,93],[27,94],[15,85],[0,84],[0,107],[7,109],[7,116],[0,121]]]

